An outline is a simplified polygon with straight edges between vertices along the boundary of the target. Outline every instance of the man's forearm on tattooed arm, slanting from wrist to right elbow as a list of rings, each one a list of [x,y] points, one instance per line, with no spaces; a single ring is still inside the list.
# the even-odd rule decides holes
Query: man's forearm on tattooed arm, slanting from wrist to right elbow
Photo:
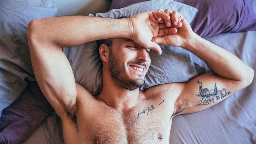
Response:
[[[253,69],[238,57],[196,34],[184,44],[183,48],[200,57],[215,74],[221,77],[238,81],[253,77]]]

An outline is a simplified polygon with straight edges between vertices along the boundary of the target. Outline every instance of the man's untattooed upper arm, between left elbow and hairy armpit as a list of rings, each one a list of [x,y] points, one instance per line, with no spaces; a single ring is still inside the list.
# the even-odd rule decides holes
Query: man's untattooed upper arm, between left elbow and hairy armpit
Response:
[[[62,116],[73,108],[77,88],[68,59],[61,48],[28,38],[32,67],[37,83],[53,108]]]

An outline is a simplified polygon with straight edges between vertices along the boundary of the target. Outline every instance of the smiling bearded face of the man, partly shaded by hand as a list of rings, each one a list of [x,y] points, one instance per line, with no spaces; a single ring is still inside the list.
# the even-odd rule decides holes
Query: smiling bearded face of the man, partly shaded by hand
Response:
[[[149,51],[132,40],[112,39],[108,66],[113,82],[127,90],[143,86],[151,63]]]

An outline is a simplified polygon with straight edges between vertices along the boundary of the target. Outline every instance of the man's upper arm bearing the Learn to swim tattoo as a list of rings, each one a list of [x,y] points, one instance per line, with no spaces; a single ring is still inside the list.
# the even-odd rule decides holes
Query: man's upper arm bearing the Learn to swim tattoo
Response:
[[[247,86],[246,81],[231,80],[213,73],[200,75],[183,83],[173,115],[202,111]]]

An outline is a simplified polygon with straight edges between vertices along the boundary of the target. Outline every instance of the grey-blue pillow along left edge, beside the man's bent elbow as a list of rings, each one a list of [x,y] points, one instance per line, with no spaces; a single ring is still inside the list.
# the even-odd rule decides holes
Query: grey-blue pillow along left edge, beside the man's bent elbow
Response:
[[[0,115],[35,81],[27,40],[33,19],[57,14],[53,0],[8,0],[0,5]]]

